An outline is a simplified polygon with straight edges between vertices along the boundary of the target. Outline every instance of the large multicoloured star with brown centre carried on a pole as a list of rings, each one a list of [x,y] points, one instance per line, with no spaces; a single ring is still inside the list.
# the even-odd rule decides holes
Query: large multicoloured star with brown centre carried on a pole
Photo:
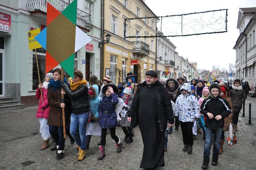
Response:
[[[60,65],[70,76],[74,74],[74,56],[92,39],[76,26],[77,0],[61,13],[47,2],[46,28],[35,40],[46,50],[45,73]]]

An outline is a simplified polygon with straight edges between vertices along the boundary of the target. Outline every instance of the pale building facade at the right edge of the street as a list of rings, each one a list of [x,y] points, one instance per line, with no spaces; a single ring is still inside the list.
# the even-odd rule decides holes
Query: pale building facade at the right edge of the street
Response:
[[[256,7],[239,8],[237,29],[239,37],[233,47],[236,50],[236,78],[248,81],[252,88],[256,83]]]

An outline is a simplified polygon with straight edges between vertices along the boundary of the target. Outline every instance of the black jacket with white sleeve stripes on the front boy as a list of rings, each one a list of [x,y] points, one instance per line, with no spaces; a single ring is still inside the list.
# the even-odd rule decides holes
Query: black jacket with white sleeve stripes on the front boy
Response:
[[[222,116],[222,125],[221,127],[224,127],[224,118],[227,117],[230,113],[232,113],[231,107],[224,98],[213,98],[212,96],[209,96],[208,98],[204,99],[201,107],[200,112],[207,116],[207,113],[213,114],[213,116],[221,115]],[[207,124],[205,124],[205,127],[208,127]]]

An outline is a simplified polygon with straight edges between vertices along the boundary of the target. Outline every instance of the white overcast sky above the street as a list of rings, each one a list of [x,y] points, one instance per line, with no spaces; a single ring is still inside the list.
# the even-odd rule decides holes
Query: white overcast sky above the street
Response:
[[[228,70],[228,63],[235,64],[233,47],[239,36],[236,28],[239,7],[256,7],[255,0],[145,0],[145,3],[157,16],[228,9],[226,33],[168,38],[180,56],[187,57],[189,62],[197,61],[197,69],[207,70],[211,70],[212,65]]]

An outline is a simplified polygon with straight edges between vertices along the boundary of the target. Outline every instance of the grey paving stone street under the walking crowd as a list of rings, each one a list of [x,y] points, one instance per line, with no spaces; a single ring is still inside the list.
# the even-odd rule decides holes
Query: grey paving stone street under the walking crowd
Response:
[[[249,103],[252,103],[252,125],[248,125]],[[43,144],[39,134],[39,120],[35,118],[37,107],[25,108],[18,111],[0,112],[0,170],[132,170],[139,169],[143,152],[143,142],[139,127],[136,127],[134,142],[123,144],[121,153],[116,153],[115,142],[107,135],[106,157],[98,161],[99,154],[97,142],[100,136],[93,136],[90,148],[85,159],[76,161],[76,144],[70,145],[67,137],[65,143],[65,157],[57,161],[56,153],[49,149],[40,151]],[[240,113],[239,116],[242,116]],[[209,165],[209,170],[253,170],[256,169],[256,99],[248,98],[245,105],[245,117],[239,117],[238,143],[234,146],[224,144],[224,152],[219,156],[217,166]],[[225,133],[227,137],[228,133]],[[124,134],[121,127],[117,127],[117,136],[122,140]],[[54,143],[50,142],[50,147]],[[169,135],[168,150],[165,152],[165,167],[167,169],[201,169],[204,140],[198,134],[194,140],[193,153],[188,155],[182,151],[182,133],[173,131]],[[212,152],[211,152],[212,154]],[[22,165],[26,161],[35,163]],[[211,161],[211,158],[210,158]]]

